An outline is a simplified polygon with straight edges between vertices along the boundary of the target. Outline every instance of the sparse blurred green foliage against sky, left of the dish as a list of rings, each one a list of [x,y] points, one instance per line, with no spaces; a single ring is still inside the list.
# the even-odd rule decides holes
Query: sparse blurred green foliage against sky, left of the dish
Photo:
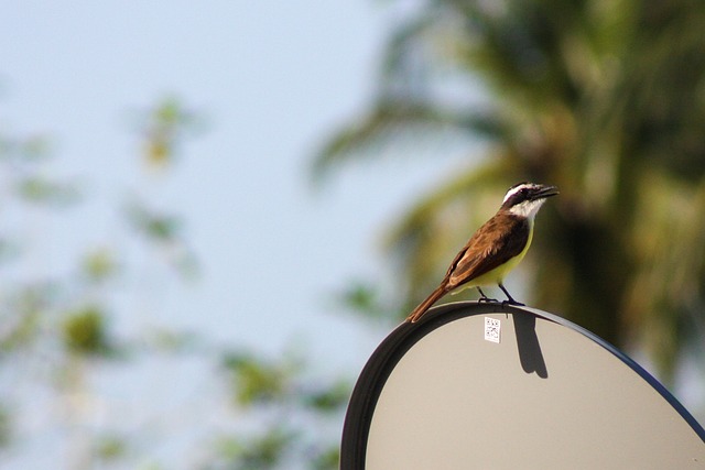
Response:
[[[216,390],[223,384],[227,387],[225,398],[234,417],[220,420],[231,426],[195,437],[202,440],[196,442],[199,456],[191,459],[194,468],[337,468],[348,380],[314,379],[312,367],[297,354],[271,360],[254,351],[223,352],[210,338],[169,325],[118,332],[116,325],[141,314],[134,305],[155,295],[152,285],[163,285],[170,273],[180,280],[192,278],[198,269],[188,248],[185,220],[161,208],[152,196],[202,119],[181,100],[169,97],[142,111],[138,121],[143,161],[150,168],[159,167],[156,176],[162,179],[154,179],[151,173],[145,187],[132,193],[123,210],[116,211],[119,237],[112,232],[112,241],[79,247],[69,265],[58,271],[51,263],[44,265],[43,259],[37,269],[32,256],[43,243],[54,242],[53,233],[41,229],[42,222],[56,218],[69,227],[75,222],[69,209],[79,209],[95,196],[79,190],[76,178],[55,176],[59,166],[48,138],[0,133],[0,178],[6,183],[0,187],[6,216],[0,222],[0,380],[4,384],[0,387],[0,467],[6,457],[2,450],[36,448],[35,442],[28,442],[32,437],[14,433],[15,427],[26,426],[24,406],[30,406],[46,417],[45,426],[54,426],[51,439],[62,440],[62,449],[70,456],[59,458],[59,467],[167,468],[155,457],[155,449],[167,446],[164,442],[173,437],[172,430],[156,435],[150,427],[126,431],[121,418],[110,422],[104,416],[110,413],[101,409],[101,402],[109,398],[93,393],[94,379],[99,382],[109,370],[131,378],[139,371],[139,361],[169,358],[197,359],[207,368],[219,364],[217,371],[225,371],[225,381],[223,374],[210,379]],[[76,223],[86,230],[85,222]],[[153,270],[155,259],[166,261],[166,270]],[[159,277],[149,278],[152,273]],[[160,300],[148,303],[159,305]],[[21,387],[11,383],[12,376],[22,379]],[[36,393],[28,390],[26,380],[37,382]],[[25,403],[45,393],[52,395],[48,404]],[[170,419],[174,416],[159,418]],[[95,425],[96,420],[108,422]]]

